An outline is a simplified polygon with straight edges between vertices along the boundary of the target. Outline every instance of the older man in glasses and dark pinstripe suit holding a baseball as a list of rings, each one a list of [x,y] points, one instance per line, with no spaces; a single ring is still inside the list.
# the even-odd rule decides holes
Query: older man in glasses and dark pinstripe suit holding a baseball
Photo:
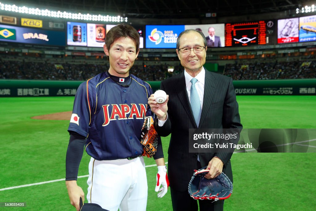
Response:
[[[157,132],[161,136],[171,133],[168,176],[173,210],[197,210],[197,200],[188,194],[193,170],[207,166],[208,179],[223,171],[233,180],[232,153],[189,152],[189,128],[242,128],[232,78],[204,69],[206,50],[202,32],[180,33],[176,52],[184,71],[161,82],[161,90],[168,94],[166,102],[158,104],[154,95],[148,98],[157,116]],[[223,210],[223,201],[199,200],[199,207],[201,211]]]

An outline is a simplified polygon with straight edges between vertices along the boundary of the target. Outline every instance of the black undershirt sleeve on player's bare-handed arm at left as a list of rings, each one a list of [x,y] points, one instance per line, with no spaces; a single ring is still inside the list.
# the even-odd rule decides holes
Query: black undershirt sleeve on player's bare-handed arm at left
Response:
[[[86,137],[76,132],[70,132],[70,139],[66,153],[66,181],[77,180],[80,161]]]

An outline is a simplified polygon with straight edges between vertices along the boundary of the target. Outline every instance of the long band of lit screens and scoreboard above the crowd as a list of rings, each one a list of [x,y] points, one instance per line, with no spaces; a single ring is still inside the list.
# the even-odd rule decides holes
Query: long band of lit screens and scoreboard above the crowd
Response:
[[[42,29],[0,25],[0,42],[102,48],[106,39],[106,33],[115,26],[114,24],[104,24],[101,22],[66,22],[67,27],[64,28],[64,31],[54,31],[50,28],[48,28],[50,30],[44,30],[44,26],[47,25],[45,24],[46,22],[44,21],[41,26]],[[216,24],[132,24],[131,26],[137,30],[140,36],[140,48],[176,48],[178,35],[186,29],[195,29],[201,32],[202,36],[207,40],[212,39],[218,42],[216,46],[207,44],[208,48],[253,46],[253,48],[263,49],[266,47],[269,48],[269,46],[264,47],[264,45],[316,42],[316,15],[278,20],[270,19]],[[261,45],[261,47],[254,47],[256,45]]]

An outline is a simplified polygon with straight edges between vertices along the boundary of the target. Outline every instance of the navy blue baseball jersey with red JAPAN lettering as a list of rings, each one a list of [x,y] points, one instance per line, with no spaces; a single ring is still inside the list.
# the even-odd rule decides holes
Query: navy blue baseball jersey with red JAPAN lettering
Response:
[[[77,90],[68,131],[87,137],[86,152],[97,160],[143,153],[139,139],[145,117],[153,116],[148,106],[153,91],[148,83],[130,76],[131,84],[124,87],[103,72]]]

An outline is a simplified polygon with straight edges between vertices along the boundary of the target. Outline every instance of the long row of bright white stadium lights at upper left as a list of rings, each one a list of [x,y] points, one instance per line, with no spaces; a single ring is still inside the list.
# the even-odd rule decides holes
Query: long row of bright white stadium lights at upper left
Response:
[[[81,14],[81,13],[71,13],[71,12],[61,12],[48,9],[39,8],[28,8],[26,6],[17,6],[15,4],[5,4],[0,2],[0,10],[5,10],[9,12],[16,12],[21,14],[37,15],[37,16],[48,16],[55,18],[64,19],[77,19],[77,20],[90,20],[90,21],[103,21],[103,22],[127,22],[127,17],[121,16],[102,16],[102,15],[92,15],[92,14]]]

